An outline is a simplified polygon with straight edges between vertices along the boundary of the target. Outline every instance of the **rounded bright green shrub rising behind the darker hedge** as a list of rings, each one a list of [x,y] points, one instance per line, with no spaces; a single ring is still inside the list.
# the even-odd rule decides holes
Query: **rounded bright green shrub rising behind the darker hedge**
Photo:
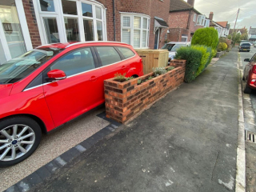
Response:
[[[218,31],[213,27],[198,29],[194,32],[191,45],[210,46],[215,50],[218,46]]]

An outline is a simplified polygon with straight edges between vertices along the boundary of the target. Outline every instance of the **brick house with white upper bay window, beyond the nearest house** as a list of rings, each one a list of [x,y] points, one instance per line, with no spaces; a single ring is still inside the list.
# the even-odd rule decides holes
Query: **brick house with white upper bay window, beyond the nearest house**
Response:
[[[194,0],[170,0],[167,41],[190,42],[194,31],[209,23],[205,15],[194,9]]]

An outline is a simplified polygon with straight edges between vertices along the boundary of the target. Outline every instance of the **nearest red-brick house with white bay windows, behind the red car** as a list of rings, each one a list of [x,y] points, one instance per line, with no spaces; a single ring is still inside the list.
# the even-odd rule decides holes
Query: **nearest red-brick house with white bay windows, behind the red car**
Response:
[[[0,64],[54,42],[164,43],[169,0],[1,0]]]

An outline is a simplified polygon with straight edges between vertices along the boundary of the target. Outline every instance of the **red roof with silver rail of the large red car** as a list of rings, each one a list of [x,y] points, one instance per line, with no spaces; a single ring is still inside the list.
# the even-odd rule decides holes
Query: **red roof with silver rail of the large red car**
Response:
[[[125,46],[130,46],[126,43],[123,42],[103,42],[103,41],[90,41],[90,42],[63,42],[63,43],[52,43],[52,44],[46,44],[42,46],[38,46],[37,48],[47,48],[47,47],[54,47],[54,48],[59,48],[59,49],[65,49],[70,46],[76,46],[76,45],[82,45],[82,44],[92,44],[92,45],[125,45]]]

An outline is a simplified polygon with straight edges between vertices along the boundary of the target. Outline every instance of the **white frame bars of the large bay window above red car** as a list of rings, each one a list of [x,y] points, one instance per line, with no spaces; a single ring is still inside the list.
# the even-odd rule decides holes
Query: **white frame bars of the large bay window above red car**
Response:
[[[36,14],[38,22],[38,30],[41,38],[42,45],[47,44],[46,30],[42,18],[56,18],[58,25],[58,35],[60,42],[68,42],[66,38],[66,27],[65,27],[65,18],[78,18],[78,31],[80,35],[80,42],[86,42],[84,36],[84,26],[83,19],[93,20],[94,23],[94,41],[98,41],[97,34],[97,21],[102,22],[102,41],[107,41],[106,35],[106,7],[102,3],[96,2],[94,0],[71,0],[76,2],[78,15],[73,14],[63,14],[62,10],[62,0],[54,0],[55,12],[42,11],[39,0],[33,0],[34,3],[34,12]],[[82,15],[82,3],[92,5],[93,17],[86,17]],[[95,7],[98,6],[102,10],[102,19],[96,18]]]

